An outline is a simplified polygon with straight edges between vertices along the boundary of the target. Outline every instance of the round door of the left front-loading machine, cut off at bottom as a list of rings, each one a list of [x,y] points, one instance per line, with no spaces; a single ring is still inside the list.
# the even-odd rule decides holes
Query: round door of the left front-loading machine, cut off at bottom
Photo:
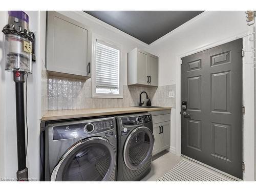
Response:
[[[115,164],[113,145],[105,138],[89,138],[70,147],[55,167],[51,180],[109,181]]]

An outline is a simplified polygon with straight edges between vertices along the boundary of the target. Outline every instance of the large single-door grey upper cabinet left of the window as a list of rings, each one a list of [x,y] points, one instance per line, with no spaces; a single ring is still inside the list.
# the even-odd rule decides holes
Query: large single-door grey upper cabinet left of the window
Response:
[[[57,75],[91,77],[91,32],[55,11],[47,16],[47,70]]]

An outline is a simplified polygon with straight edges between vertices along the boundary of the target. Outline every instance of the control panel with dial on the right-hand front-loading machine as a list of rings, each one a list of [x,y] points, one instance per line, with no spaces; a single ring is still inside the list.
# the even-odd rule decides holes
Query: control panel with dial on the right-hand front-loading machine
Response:
[[[134,117],[123,117],[122,126],[135,126],[142,123],[149,123],[152,121],[151,114],[148,115],[141,115],[141,116],[134,116]]]

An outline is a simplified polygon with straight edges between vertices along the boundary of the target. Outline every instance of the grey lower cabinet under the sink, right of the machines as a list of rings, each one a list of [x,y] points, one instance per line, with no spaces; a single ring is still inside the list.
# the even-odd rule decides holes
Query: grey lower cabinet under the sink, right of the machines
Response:
[[[153,155],[156,155],[170,147],[170,112],[152,113],[152,119],[155,137]]]

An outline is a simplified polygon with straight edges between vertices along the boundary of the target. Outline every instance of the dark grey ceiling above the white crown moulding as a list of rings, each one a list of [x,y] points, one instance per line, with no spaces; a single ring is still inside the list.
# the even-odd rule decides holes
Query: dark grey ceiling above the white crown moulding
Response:
[[[203,11],[84,11],[151,44]]]

